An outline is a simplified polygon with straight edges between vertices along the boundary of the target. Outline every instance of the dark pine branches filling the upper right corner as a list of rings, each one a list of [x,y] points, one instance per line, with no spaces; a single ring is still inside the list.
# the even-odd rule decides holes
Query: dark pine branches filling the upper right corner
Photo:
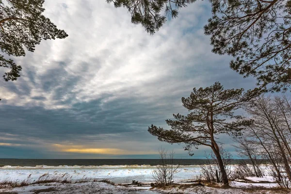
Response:
[[[291,0],[212,0],[205,26],[212,51],[236,57],[230,67],[272,91],[291,84]]]

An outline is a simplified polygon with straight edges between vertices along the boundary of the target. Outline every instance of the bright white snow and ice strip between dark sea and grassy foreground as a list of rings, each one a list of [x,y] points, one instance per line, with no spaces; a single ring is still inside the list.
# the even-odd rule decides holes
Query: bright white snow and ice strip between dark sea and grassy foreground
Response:
[[[103,165],[103,166],[3,166],[0,167],[0,180],[34,181],[44,174],[49,176],[68,176],[72,180],[82,178],[108,178],[115,183],[151,182],[152,171],[155,166],[150,165]],[[176,180],[189,180],[200,174],[198,165],[180,166]],[[29,177],[29,178],[28,178]]]

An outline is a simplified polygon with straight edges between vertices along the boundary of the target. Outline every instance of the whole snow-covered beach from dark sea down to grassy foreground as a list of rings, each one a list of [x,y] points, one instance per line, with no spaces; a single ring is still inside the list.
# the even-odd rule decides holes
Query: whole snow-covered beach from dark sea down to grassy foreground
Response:
[[[200,174],[199,165],[182,165],[174,178],[178,185],[169,188],[152,188],[152,171],[155,166],[151,165],[101,165],[101,166],[2,166],[0,167],[0,181],[26,181],[33,183],[40,178],[68,178],[70,182],[37,183],[21,187],[1,188],[1,192],[10,194],[158,194],[158,193],[189,193],[189,194],[248,194],[248,193],[284,193],[277,190],[278,185],[270,176],[263,178],[245,178],[230,182],[229,188],[220,188],[221,185],[196,186],[194,182]],[[108,179],[115,185],[98,182]],[[141,186],[129,185],[132,180],[143,183]],[[127,184],[127,186],[123,186]]]

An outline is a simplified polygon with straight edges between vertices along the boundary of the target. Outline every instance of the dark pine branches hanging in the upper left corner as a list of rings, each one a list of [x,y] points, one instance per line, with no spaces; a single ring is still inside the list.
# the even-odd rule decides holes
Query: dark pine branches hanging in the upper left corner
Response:
[[[44,0],[0,0],[0,67],[10,68],[3,75],[5,81],[20,77],[21,66],[7,55],[25,56],[25,49],[34,51],[42,39],[65,38],[64,30],[57,29],[42,15]]]

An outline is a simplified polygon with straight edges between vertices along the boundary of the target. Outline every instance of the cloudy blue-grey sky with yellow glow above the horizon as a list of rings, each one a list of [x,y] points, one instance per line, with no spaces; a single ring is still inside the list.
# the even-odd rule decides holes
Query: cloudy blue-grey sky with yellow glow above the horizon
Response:
[[[17,81],[0,79],[0,158],[157,158],[161,146],[177,158],[204,158],[208,147],[190,157],[148,126],[168,128],[165,119],[187,113],[181,97],[194,87],[255,87],[229,68],[231,57],[211,53],[207,1],[182,8],[154,35],[105,0],[46,0],[44,7],[69,36],[12,57],[23,70]],[[219,138],[235,154],[231,139]]]

